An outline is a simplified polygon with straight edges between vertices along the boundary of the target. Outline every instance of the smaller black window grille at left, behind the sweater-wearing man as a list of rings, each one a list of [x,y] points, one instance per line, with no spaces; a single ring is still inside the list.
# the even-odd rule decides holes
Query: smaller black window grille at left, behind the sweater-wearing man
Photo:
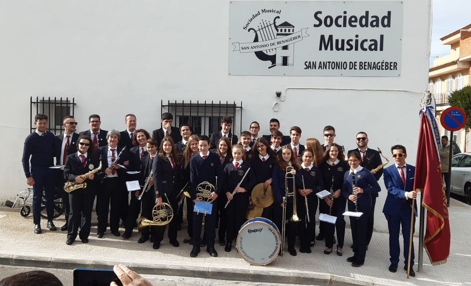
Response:
[[[39,98],[36,96],[35,101],[33,100],[32,96],[30,97],[30,117],[29,117],[29,125],[30,125],[30,132],[34,132],[36,127],[34,126],[34,116],[38,113],[43,113],[47,115],[49,123],[48,129],[50,132],[58,135],[64,131],[64,127],[62,124],[62,119],[67,115],[72,115],[74,113],[75,108],[75,98],[72,97],[69,99],[66,97],[63,99],[60,98],[50,98],[50,97],[42,97]]]

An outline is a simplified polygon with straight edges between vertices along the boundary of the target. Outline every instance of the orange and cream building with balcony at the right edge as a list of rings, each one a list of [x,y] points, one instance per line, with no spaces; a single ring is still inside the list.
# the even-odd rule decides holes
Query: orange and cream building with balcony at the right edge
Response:
[[[450,46],[450,54],[433,60],[428,69],[428,90],[433,94],[436,117],[449,107],[448,96],[471,83],[471,24],[440,38],[441,44]],[[449,131],[440,126],[440,132],[449,137]],[[471,152],[470,130],[453,132],[453,140],[462,152]]]

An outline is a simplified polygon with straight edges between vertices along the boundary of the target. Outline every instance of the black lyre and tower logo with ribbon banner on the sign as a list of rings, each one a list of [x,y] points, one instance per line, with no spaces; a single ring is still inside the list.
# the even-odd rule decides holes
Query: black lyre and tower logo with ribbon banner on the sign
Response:
[[[274,16],[274,14],[276,16]],[[251,53],[261,61],[267,61],[267,68],[275,66],[293,66],[294,43],[301,41],[307,27],[295,29],[288,21],[283,21],[279,16],[280,10],[260,9],[247,16],[247,23],[242,29],[249,32],[249,42],[232,42],[233,51]]]

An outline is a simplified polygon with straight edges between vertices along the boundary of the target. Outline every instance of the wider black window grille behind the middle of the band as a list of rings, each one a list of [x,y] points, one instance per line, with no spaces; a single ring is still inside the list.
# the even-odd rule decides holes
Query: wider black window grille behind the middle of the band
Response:
[[[170,112],[173,115],[173,126],[179,127],[185,123],[191,128],[193,134],[211,135],[211,133],[220,130],[221,118],[229,116],[232,118],[232,127],[230,132],[239,135],[242,132],[242,101],[237,105],[235,101],[232,103],[225,102],[174,102],[163,100],[160,101],[160,114]]]

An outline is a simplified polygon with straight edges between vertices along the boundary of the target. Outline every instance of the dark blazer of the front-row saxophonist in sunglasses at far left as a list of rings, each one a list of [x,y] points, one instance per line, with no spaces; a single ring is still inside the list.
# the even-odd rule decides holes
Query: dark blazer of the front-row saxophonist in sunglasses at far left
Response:
[[[83,167],[83,164],[85,164],[85,167]],[[99,160],[90,154],[87,154],[87,157],[83,163],[81,162],[80,158],[78,158],[77,152],[67,155],[65,158],[64,179],[66,181],[75,182],[75,177],[86,174],[91,170],[98,168],[98,166]],[[98,177],[99,176],[97,176],[95,173],[93,180],[86,179],[85,183],[89,184],[92,182],[94,184],[99,181]]]

